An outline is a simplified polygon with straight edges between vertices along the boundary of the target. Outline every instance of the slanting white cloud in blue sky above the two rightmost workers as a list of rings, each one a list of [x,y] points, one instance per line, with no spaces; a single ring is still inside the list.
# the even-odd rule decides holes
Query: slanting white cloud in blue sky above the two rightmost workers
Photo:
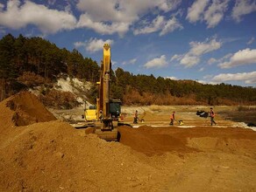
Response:
[[[189,45],[190,50],[187,53],[183,55],[174,55],[171,58],[171,61],[178,60],[181,65],[185,66],[185,68],[192,67],[200,62],[203,54],[218,50],[222,46],[222,43],[218,42],[216,38],[207,38],[204,42],[192,41]]]

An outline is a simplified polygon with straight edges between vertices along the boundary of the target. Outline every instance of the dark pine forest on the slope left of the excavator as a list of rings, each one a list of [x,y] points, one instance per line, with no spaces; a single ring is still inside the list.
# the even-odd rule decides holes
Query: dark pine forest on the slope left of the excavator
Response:
[[[1,100],[33,86],[49,86],[66,74],[70,78],[96,82],[99,65],[77,51],[60,49],[43,38],[11,34],[0,40]]]

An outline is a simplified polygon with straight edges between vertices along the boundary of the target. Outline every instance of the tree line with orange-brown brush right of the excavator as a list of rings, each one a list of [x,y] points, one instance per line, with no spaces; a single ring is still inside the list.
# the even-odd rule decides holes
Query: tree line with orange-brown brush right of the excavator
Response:
[[[201,84],[153,75],[133,75],[117,68],[112,93],[124,103],[143,105],[256,105],[256,88]],[[114,97],[113,95],[113,97]]]

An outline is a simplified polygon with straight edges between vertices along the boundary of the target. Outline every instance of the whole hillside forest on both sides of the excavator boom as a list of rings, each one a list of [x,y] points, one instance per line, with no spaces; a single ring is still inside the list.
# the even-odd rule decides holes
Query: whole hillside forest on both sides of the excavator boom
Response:
[[[75,49],[60,49],[43,38],[15,38],[8,34],[0,40],[0,99],[33,86],[51,87],[65,74],[93,82],[89,97],[95,101],[99,65]],[[49,92],[51,89],[41,94],[46,96]],[[203,85],[193,80],[134,75],[122,68],[111,72],[110,96],[121,99],[124,105],[256,105],[254,87]]]

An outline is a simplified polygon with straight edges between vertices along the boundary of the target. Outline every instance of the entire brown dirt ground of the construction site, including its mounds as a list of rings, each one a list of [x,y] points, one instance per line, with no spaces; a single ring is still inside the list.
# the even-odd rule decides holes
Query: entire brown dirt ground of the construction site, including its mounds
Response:
[[[218,114],[233,107],[215,106],[210,126],[196,115],[210,106],[123,106],[132,127],[109,142],[68,123],[82,109],[18,93],[0,103],[0,191],[256,191],[256,133]]]

